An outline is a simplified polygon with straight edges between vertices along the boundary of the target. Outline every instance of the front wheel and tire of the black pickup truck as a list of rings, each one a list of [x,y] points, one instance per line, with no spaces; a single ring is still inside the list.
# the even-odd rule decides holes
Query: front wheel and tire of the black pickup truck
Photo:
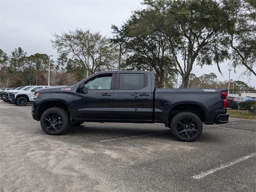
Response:
[[[69,115],[62,108],[49,108],[43,112],[40,118],[40,124],[47,134],[61,135],[66,132],[70,125]]]

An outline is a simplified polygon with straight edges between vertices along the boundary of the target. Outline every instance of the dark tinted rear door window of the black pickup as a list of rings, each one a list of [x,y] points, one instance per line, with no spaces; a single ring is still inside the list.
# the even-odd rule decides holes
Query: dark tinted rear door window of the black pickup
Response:
[[[121,73],[119,89],[141,89],[144,82],[144,74]]]

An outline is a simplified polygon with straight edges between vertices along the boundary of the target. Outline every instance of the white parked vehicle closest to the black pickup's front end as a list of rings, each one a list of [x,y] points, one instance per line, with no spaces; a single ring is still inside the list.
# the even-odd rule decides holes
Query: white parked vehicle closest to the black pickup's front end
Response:
[[[50,86],[28,86],[24,90],[12,91],[8,95],[8,100],[12,104],[25,106],[28,102],[34,101],[34,92]]]

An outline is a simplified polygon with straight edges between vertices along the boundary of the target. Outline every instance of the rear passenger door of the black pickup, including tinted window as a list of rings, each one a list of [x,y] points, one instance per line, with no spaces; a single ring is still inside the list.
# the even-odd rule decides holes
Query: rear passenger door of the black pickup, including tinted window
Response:
[[[152,121],[153,94],[147,72],[118,72],[114,90],[114,119],[121,121]]]

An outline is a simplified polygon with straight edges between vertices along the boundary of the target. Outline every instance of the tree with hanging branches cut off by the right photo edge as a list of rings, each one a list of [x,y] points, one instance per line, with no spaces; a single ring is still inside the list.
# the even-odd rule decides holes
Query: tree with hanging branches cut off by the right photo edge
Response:
[[[245,66],[248,74],[256,76],[256,1],[223,0],[223,4],[230,16],[225,38],[231,48],[232,66]]]

